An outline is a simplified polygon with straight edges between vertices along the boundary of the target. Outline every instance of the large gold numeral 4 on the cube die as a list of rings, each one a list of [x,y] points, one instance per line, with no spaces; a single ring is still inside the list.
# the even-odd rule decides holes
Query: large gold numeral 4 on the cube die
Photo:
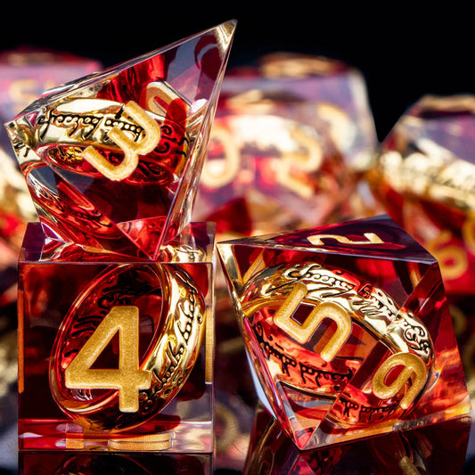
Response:
[[[113,307],[64,372],[69,389],[119,389],[119,410],[138,411],[139,389],[149,389],[152,373],[139,369],[138,308]],[[111,338],[119,332],[119,369],[91,369]]]

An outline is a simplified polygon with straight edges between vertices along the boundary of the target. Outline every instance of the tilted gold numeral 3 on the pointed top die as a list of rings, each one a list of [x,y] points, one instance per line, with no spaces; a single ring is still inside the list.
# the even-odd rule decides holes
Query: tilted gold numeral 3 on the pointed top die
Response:
[[[143,127],[145,136],[142,140],[135,142],[129,138],[119,127],[112,127],[108,133],[109,138],[115,142],[122,152],[124,160],[119,165],[113,165],[105,160],[100,152],[93,146],[89,146],[83,152],[83,158],[94,166],[103,176],[110,180],[119,181],[131,176],[138,165],[138,156],[152,152],[160,142],[160,126],[150,117],[147,112],[135,102],[130,101],[124,106],[126,112],[135,122]]]

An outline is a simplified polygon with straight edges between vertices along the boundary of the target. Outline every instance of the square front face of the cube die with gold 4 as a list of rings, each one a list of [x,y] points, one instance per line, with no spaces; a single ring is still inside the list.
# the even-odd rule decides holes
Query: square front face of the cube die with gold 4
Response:
[[[214,266],[190,252],[20,260],[20,450],[212,450]]]

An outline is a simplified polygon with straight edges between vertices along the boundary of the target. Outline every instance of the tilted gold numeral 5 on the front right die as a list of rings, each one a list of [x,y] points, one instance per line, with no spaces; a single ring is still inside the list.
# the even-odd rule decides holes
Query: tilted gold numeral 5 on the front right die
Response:
[[[323,302],[310,312],[301,325],[292,319],[292,315],[307,295],[307,286],[304,283],[296,283],[283,302],[282,307],[274,315],[274,323],[284,332],[291,335],[299,343],[307,343],[323,319],[330,318],[337,323],[337,331],[323,348],[320,356],[324,361],[330,362],[340,351],[340,348],[348,340],[351,333],[351,317],[348,312],[338,304]]]

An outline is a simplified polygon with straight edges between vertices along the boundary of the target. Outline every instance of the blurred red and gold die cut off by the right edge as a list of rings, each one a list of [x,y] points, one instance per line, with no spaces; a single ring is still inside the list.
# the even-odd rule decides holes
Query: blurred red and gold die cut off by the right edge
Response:
[[[440,264],[448,293],[475,283],[474,96],[423,97],[398,120],[368,174],[397,224]]]

